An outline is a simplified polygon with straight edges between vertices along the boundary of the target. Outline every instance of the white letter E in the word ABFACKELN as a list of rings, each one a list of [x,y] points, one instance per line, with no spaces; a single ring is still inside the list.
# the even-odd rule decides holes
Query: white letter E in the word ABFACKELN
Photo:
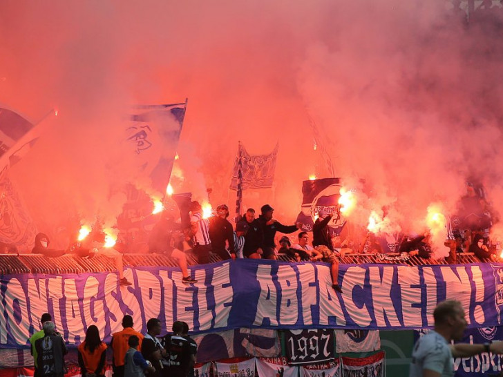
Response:
[[[401,307],[404,325],[414,327],[421,322],[421,286],[417,267],[398,266],[398,284],[401,289]]]

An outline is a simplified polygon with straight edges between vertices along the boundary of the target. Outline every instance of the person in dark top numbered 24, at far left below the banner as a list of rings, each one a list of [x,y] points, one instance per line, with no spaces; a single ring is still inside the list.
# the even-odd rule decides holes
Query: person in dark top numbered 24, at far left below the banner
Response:
[[[35,341],[37,373],[35,377],[64,377],[64,356],[68,353],[63,338],[57,333],[54,322],[44,322],[44,338]]]

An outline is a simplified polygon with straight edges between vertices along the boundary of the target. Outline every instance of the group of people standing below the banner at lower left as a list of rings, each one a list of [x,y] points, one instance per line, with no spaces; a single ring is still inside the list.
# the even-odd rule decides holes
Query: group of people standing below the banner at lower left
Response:
[[[35,377],[63,377],[67,354],[63,338],[55,330],[49,313],[41,316],[41,331],[30,338],[35,361]],[[112,334],[113,377],[192,377],[197,345],[189,336],[186,322],[175,321],[173,334],[158,338],[162,331],[160,320],[146,323],[146,334],[133,329],[133,318],[124,316],[122,331]],[[86,337],[78,347],[82,377],[104,377],[108,346],[99,336],[95,325],[88,327]]]

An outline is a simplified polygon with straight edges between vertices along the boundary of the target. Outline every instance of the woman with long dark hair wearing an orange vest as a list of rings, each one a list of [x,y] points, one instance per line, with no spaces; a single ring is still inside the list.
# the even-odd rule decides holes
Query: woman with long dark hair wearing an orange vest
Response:
[[[106,344],[99,337],[98,328],[95,325],[89,326],[86,339],[77,347],[82,377],[105,376],[106,348]]]

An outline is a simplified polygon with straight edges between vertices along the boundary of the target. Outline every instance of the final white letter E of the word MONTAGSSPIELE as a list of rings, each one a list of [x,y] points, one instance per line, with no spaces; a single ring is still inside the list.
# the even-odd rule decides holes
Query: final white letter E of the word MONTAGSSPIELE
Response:
[[[213,270],[212,284],[215,294],[215,327],[226,327],[229,321],[229,313],[232,308],[234,289],[231,285],[230,265],[224,264]]]

